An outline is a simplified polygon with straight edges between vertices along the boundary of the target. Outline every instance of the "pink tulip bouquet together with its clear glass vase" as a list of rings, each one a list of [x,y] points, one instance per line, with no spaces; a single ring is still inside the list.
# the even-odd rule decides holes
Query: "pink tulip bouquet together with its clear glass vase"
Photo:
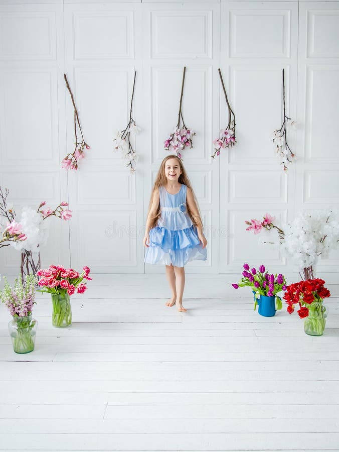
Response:
[[[47,270],[39,270],[40,277],[38,285],[42,287],[40,292],[48,292],[52,295],[52,324],[58,328],[70,326],[72,324],[72,311],[70,295],[75,291],[84,293],[87,289],[84,279],[91,280],[90,269],[83,267],[83,272],[79,274],[72,268],[65,269],[61,265],[51,265]]]

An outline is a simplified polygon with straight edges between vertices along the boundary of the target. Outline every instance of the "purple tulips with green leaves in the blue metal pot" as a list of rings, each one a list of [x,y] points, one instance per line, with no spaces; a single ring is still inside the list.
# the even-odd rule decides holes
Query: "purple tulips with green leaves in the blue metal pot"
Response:
[[[250,271],[250,266],[248,264],[244,264],[244,271],[242,272],[243,278],[239,284],[232,284],[235,289],[239,289],[239,287],[249,286],[252,288],[253,293],[255,294],[255,304],[254,309],[257,305],[257,298],[260,295],[265,297],[273,297],[278,292],[282,290],[286,290],[286,281],[285,277],[279,273],[277,274],[269,274],[265,271],[265,266],[260,265],[259,270],[252,268]],[[282,308],[282,303],[279,298],[276,300],[277,309]]]

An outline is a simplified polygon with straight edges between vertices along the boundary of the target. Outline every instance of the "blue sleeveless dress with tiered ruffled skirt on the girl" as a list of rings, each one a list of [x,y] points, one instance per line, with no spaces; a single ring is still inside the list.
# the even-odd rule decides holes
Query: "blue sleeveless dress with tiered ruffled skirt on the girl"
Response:
[[[157,225],[149,231],[149,248],[146,248],[146,264],[165,264],[184,267],[189,261],[207,260],[197,228],[187,212],[187,186],[182,184],[177,194],[159,187],[161,216]]]

